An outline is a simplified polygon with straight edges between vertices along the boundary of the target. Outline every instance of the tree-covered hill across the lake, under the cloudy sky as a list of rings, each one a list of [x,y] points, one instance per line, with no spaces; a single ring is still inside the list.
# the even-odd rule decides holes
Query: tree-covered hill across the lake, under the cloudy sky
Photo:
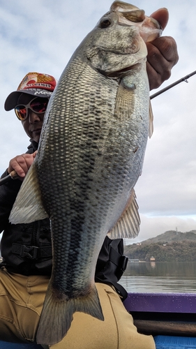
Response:
[[[169,230],[140,244],[124,246],[124,254],[130,259],[165,261],[196,260],[196,230],[176,232]]]

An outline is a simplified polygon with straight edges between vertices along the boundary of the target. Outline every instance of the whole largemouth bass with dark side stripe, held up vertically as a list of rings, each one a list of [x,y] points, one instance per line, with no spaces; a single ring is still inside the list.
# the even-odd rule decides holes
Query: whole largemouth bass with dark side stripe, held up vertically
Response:
[[[38,343],[61,341],[75,311],[104,320],[98,253],[107,234],[139,232],[134,186],[152,130],[145,41],[160,33],[144,10],[115,1],[50,98],[36,160],[10,214],[11,223],[51,220],[53,269]]]

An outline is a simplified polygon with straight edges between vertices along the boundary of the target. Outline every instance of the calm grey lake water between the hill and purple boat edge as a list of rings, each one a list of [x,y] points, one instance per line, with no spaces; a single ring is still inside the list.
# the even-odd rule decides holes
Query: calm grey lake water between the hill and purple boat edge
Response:
[[[128,262],[119,283],[127,292],[196,293],[196,262]]]

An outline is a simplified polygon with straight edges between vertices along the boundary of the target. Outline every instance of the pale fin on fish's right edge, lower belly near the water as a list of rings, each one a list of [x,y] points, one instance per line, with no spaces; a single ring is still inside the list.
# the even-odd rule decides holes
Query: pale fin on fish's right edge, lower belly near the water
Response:
[[[138,212],[135,190],[132,190],[128,205],[114,225],[114,228],[107,233],[111,239],[137,237],[140,231],[140,215]]]

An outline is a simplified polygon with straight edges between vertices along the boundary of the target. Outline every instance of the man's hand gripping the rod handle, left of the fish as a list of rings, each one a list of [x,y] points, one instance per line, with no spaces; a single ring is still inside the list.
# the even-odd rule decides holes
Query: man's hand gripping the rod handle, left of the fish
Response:
[[[35,156],[36,151],[33,154],[22,154],[15,156],[15,158],[12,158],[12,160],[10,160],[8,173],[15,170],[15,172],[19,176],[19,179],[23,181],[24,177],[26,176],[29,168],[31,167],[34,161]]]

